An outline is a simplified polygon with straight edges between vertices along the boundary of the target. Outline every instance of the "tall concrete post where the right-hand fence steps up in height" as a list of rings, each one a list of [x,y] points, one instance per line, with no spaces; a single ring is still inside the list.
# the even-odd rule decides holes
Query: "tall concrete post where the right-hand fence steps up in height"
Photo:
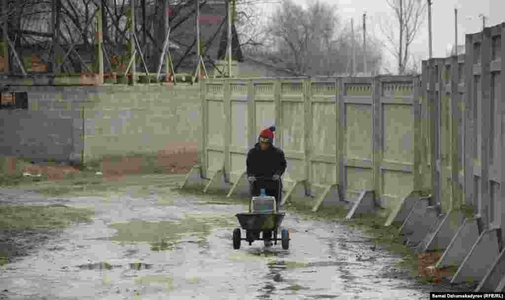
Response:
[[[465,120],[465,141],[464,141],[464,169],[465,174],[465,205],[473,205],[475,195],[474,190],[474,147],[477,140],[475,139],[477,120],[474,120],[473,103],[477,101],[474,99],[474,53],[473,53],[473,38],[472,34],[465,36],[465,106],[464,106],[464,120]]]

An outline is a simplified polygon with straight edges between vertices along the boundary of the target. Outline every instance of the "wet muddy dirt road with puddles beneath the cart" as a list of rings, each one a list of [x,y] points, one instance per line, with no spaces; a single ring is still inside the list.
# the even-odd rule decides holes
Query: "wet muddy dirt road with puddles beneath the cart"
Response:
[[[361,231],[289,208],[282,224],[291,229],[288,250],[261,241],[234,250],[243,201],[180,194],[174,184],[181,177],[170,178],[58,197],[0,190],[11,204],[95,210],[91,223],[2,267],[0,299],[427,299],[430,290],[447,290],[394,278],[399,258],[372,251]]]

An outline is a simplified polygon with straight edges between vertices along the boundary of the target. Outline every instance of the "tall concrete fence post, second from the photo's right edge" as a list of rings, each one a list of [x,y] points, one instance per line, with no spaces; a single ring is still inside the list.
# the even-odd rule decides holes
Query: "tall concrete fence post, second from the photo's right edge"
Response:
[[[482,229],[486,229],[491,221],[491,211],[490,211],[490,182],[489,182],[489,162],[490,162],[490,134],[491,129],[491,81],[490,81],[490,50],[491,50],[491,28],[484,28],[482,31],[482,42],[480,51],[480,65],[481,65],[481,93],[482,110],[479,112],[481,115],[481,196],[479,204],[479,214],[482,218]]]

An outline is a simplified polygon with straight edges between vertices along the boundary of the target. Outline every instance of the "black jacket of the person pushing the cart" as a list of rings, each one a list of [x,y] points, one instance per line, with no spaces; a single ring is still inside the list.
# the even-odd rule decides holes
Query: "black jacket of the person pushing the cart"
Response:
[[[286,158],[281,149],[271,144],[267,150],[262,150],[260,143],[256,143],[247,153],[245,173],[247,176],[272,178],[275,174],[282,176],[286,166]]]

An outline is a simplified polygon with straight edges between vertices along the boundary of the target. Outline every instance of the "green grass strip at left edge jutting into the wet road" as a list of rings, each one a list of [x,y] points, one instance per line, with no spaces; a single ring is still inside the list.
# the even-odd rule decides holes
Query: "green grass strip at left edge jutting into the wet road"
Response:
[[[72,222],[89,222],[93,211],[64,205],[1,206],[0,228],[4,229],[59,229]]]

